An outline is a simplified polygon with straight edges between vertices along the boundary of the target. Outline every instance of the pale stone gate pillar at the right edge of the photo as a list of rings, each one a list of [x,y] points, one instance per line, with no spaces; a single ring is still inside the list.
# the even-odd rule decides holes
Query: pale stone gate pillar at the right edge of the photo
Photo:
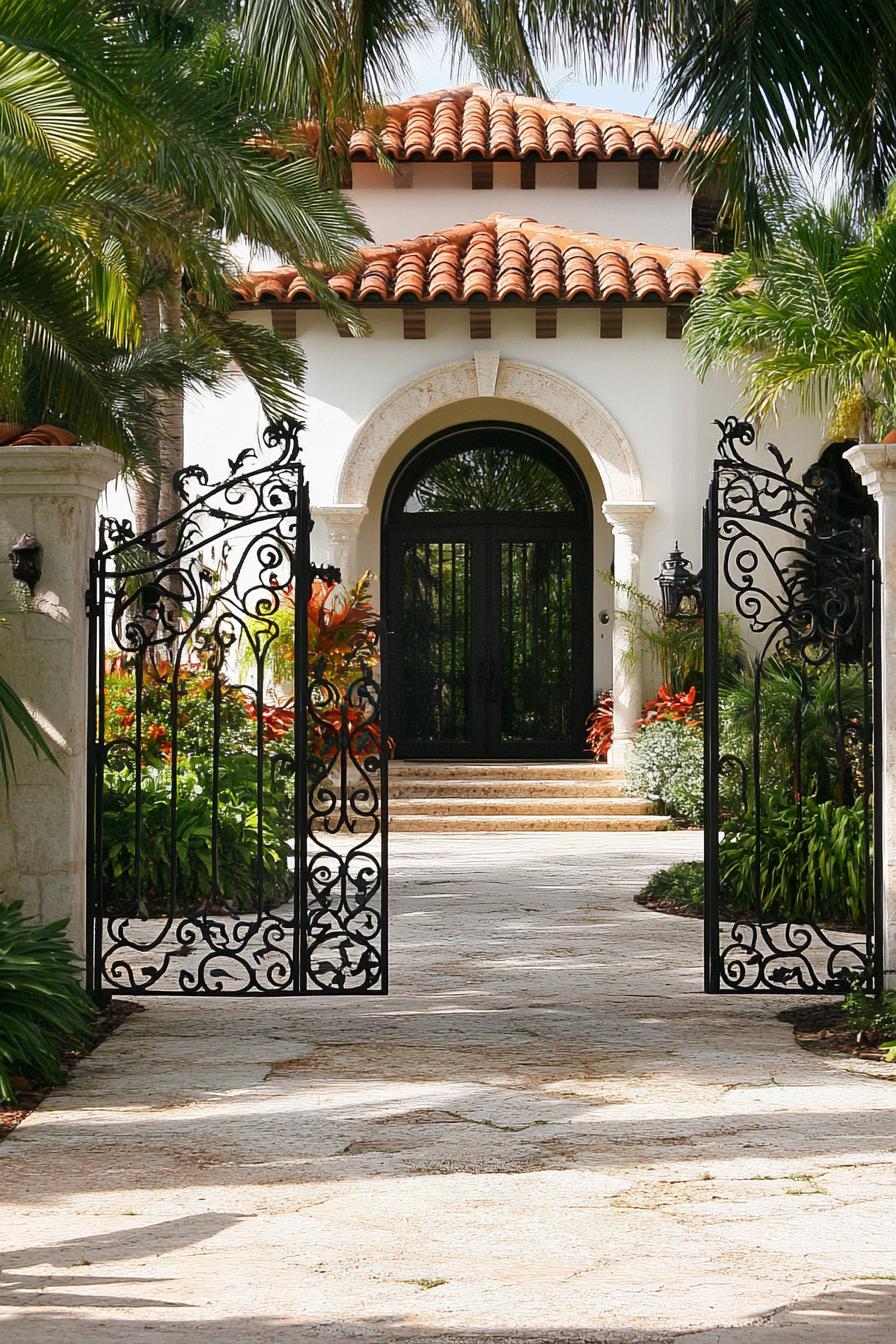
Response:
[[[884,753],[881,797],[875,798],[875,825],[884,870],[884,974],[896,988],[896,444],[857,444],[844,453],[868,493],[877,500],[880,550],[880,741]]]

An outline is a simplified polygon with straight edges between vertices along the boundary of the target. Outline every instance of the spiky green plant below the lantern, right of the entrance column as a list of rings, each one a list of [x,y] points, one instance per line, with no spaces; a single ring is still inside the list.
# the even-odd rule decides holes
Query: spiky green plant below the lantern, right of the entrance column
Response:
[[[650,659],[660,671],[664,685],[676,691],[696,687],[703,692],[703,621],[674,620],[664,614],[662,605],[631,583],[621,583],[613,574],[602,578],[625,598],[617,605],[615,620],[626,630],[625,663],[638,668]],[[733,612],[719,613],[719,676],[735,676],[746,663],[740,625]]]

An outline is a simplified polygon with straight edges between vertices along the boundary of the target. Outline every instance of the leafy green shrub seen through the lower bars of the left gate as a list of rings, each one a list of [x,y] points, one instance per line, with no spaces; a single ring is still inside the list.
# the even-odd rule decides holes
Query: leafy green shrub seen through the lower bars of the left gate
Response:
[[[141,797],[141,884],[134,907],[136,797],[132,770],[105,777],[105,914],[164,914],[172,892],[171,767],[146,766]],[[224,757],[218,796],[218,888],[212,890],[211,762],[193,758],[177,767],[177,911],[254,909],[258,892],[255,758]],[[266,907],[289,898],[292,875],[282,810],[270,784],[262,812],[262,872]]]

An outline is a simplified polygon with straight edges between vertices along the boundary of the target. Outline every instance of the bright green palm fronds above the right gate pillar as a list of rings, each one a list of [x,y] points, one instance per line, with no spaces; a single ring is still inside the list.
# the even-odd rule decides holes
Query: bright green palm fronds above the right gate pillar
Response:
[[[728,368],[747,414],[795,398],[868,442],[896,409],[896,190],[870,220],[845,198],[779,215],[763,253],[721,257],[693,301],[685,352],[700,378]]]

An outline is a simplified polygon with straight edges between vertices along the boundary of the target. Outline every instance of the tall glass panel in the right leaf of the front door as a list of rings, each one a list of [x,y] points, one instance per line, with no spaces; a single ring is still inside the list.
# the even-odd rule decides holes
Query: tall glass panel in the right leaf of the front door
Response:
[[[501,741],[576,737],[572,542],[501,542]]]

